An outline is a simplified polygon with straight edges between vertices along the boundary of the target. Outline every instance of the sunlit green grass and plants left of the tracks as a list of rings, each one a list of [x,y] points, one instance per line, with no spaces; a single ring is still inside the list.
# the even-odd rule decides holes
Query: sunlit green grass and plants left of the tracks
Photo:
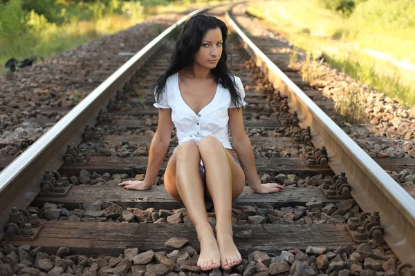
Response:
[[[57,23],[50,23],[44,15],[34,11],[24,14],[19,0],[10,0],[8,5],[0,6],[0,75],[6,74],[3,65],[11,57],[21,61],[36,53],[50,59],[87,41],[130,28],[156,14],[183,12],[219,3],[205,0],[112,2],[121,12],[105,10],[99,1],[80,1],[75,6],[61,8],[59,18],[64,19]],[[154,31],[159,34],[160,26]]]

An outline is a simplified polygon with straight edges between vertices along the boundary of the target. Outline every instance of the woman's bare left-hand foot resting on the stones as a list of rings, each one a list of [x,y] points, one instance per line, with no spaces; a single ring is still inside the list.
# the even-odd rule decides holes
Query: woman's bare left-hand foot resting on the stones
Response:
[[[212,228],[199,231],[197,238],[201,243],[201,255],[199,255],[197,266],[202,270],[219,268],[221,266],[221,255]]]

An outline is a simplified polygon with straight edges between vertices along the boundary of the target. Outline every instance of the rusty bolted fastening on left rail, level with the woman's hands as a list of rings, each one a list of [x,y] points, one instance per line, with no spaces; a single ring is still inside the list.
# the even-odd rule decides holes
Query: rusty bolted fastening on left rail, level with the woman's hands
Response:
[[[42,196],[64,197],[72,184],[68,182],[66,177],[61,177],[59,172],[50,172],[46,170],[44,179],[40,183],[40,193]]]

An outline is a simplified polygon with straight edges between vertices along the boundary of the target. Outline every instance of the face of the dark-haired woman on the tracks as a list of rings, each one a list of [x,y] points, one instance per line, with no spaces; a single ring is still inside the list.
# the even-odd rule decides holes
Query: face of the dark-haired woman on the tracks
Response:
[[[215,68],[222,56],[222,43],[222,32],[219,27],[208,30],[202,39],[201,48],[194,55],[194,62],[205,68]]]

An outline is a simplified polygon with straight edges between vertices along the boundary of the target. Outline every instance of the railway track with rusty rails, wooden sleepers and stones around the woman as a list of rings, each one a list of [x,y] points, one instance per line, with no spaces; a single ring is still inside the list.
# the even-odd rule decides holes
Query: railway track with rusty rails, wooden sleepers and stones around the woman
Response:
[[[209,12],[222,17],[224,11]],[[225,19],[236,33],[229,41],[230,67],[245,85],[244,126],[259,176],[287,187],[277,195],[257,195],[247,186],[234,202],[235,244],[244,261],[231,273],[409,271],[404,267],[415,262],[414,199],[385,172],[405,163],[367,156],[255,46],[266,52],[270,45],[252,43],[232,16]],[[1,275],[10,272],[6,264],[13,273],[29,275],[52,270],[53,275],[202,273],[187,211],[163,187],[175,132],[156,186],[146,191],[117,186],[145,173],[158,114],[148,88],[167,66],[172,50],[167,37],[176,25],[3,170]],[[206,208],[214,224],[212,203]],[[170,238],[179,239],[166,244]],[[181,239],[187,240],[184,246]],[[38,246],[47,255],[37,253]]]

